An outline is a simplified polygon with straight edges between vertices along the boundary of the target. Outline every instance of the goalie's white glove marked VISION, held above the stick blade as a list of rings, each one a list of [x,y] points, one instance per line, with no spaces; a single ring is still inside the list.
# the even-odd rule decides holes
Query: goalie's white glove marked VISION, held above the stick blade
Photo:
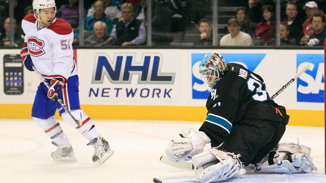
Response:
[[[179,136],[170,140],[165,153],[174,162],[188,161],[203,152],[205,144],[210,142],[211,139],[204,132],[187,127]]]

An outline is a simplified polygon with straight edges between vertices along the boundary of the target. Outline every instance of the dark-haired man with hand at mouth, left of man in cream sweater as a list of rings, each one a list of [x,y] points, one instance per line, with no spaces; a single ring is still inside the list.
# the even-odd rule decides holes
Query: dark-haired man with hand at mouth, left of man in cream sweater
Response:
[[[212,27],[207,19],[199,20],[200,37],[196,40],[193,46],[212,46],[213,36],[211,36]]]

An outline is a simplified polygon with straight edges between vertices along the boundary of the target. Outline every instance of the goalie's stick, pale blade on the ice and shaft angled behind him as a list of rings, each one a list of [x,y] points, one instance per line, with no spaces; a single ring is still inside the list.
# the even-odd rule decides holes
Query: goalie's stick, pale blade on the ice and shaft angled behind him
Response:
[[[280,94],[283,90],[285,90],[285,88],[287,88],[294,80],[296,80],[302,73],[304,73],[309,68],[310,68],[309,65],[307,65],[307,64],[304,65],[304,68],[299,73],[295,74],[295,76],[292,79],[290,79],[285,85],[283,85],[279,90],[277,90],[277,92],[274,93],[274,95],[271,97],[271,99],[273,100],[278,94]],[[298,139],[298,144],[299,144],[299,139]],[[300,144],[299,144],[299,149],[301,149]],[[194,166],[191,162],[184,162],[184,161],[173,162],[167,156],[161,156],[160,162],[165,163],[170,166],[173,166],[173,167],[176,167],[176,168],[182,168],[185,170],[193,170],[194,169]]]

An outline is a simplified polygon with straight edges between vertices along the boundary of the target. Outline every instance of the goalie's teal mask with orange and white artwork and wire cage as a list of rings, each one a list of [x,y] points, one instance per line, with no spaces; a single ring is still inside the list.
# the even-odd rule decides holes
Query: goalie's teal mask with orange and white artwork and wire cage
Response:
[[[209,53],[200,62],[199,73],[201,80],[213,89],[218,79],[228,71],[228,66],[221,54]]]

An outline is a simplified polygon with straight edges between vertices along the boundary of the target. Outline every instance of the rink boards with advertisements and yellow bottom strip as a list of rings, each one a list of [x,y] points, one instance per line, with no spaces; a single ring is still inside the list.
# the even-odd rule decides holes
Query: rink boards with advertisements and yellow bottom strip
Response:
[[[308,64],[274,100],[287,108],[290,125],[324,126],[323,50],[77,49],[81,107],[93,119],[202,122],[210,90],[198,66],[209,52],[259,74],[270,96]],[[39,79],[26,69],[19,74],[19,53],[0,50],[0,118],[30,118]]]

